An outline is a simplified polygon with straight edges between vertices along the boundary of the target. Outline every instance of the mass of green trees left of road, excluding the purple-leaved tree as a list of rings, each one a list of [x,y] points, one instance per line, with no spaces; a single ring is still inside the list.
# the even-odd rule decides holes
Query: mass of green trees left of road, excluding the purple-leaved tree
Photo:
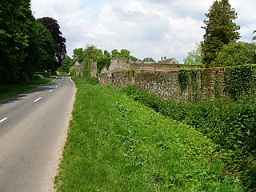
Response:
[[[53,65],[53,39],[34,18],[30,1],[0,4],[0,83],[30,81],[35,71]]]

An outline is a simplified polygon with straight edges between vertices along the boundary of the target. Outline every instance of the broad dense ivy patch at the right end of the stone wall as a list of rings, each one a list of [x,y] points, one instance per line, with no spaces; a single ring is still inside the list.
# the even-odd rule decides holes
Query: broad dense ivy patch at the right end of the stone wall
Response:
[[[233,66],[226,69],[226,94],[236,100],[254,92],[254,66]]]

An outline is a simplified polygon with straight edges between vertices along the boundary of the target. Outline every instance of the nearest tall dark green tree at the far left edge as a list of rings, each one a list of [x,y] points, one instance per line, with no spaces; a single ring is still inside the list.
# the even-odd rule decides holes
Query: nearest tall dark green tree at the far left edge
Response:
[[[28,44],[26,14],[22,7],[26,2],[0,2],[0,82],[18,79],[21,62],[26,58]]]

